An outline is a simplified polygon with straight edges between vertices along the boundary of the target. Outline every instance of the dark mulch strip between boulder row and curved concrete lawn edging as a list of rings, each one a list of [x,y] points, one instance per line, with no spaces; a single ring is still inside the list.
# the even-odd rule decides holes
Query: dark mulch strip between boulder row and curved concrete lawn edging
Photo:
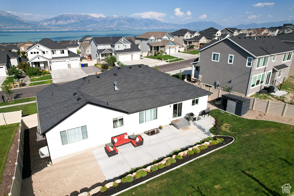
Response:
[[[216,138],[216,137],[213,137],[213,138]],[[126,182],[126,183],[121,182],[121,183],[118,184],[117,187],[110,187],[105,192],[100,192],[99,191],[98,193],[93,194],[93,196],[98,196],[98,195],[99,196],[109,196],[109,195],[112,195],[114,193],[117,193],[117,192],[119,192],[121,190],[124,190],[124,189],[126,189],[128,187],[131,187],[131,186],[136,185],[136,184],[138,184],[140,182],[143,182],[144,180],[147,180],[147,179],[149,179],[151,177],[154,177],[154,176],[156,176],[158,174],[166,172],[167,170],[170,170],[173,167],[181,165],[181,164],[183,164],[183,163],[185,163],[185,162],[187,162],[189,160],[192,160],[192,159],[194,159],[196,157],[199,157],[199,156],[201,156],[201,155],[203,155],[203,154],[205,154],[207,152],[215,150],[215,149],[217,149],[219,147],[222,147],[225,144],[228,144],[228,143],[233,141],[232,137],[218,136],[218,138],[223,138],[224,141],[222,143],[218,143],[216,145],[211,145],[208,148],[201,150],[199,153],[194,153],[193,155],[187,155],[186,157],[183,157],[183,159],[181,159],[181,160],[176,159],[177,162],[175,162],[175,163],[173,163],[173,164],[171,164],[169,166],[163,167],[162,169],[158,169],[155,172],[150,172],[145,177],[140,177],[138,179],[134,179],[132,182]]]

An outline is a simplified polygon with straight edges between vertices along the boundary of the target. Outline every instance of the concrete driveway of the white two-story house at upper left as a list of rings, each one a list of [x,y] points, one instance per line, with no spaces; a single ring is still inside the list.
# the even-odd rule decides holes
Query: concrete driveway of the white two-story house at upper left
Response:
[[[52,70],[53,83],[69,82],[88,76],[80,67]]]

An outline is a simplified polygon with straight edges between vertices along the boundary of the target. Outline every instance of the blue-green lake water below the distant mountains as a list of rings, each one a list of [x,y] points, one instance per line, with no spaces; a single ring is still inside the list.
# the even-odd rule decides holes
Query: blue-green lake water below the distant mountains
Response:
[[[0,31],[0,43],[16,43],[26,41],[39,41],[43,38],[49,38],[54,41],[78,40],[88,35],[92,37],[108,36],[138,36],[148,31],[168,31],[176,30],[112,30],[112,31]]]

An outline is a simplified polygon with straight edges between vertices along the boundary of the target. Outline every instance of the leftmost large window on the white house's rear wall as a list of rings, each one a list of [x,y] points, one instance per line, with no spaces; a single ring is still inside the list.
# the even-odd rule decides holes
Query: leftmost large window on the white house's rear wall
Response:
[[[61,131],[62,145],[70,144],[81,141],[88,138],[87,126],[77,127],[74,129],[68,129],[67,131]]]

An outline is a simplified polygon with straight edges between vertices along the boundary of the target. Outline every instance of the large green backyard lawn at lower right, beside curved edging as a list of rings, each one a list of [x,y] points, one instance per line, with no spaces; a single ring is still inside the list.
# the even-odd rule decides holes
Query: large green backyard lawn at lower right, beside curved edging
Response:
[[[221,134],[235,142],[120,195],[286,195],[281,186],[294,185],[294,126],[210,114],[224,119]]]

